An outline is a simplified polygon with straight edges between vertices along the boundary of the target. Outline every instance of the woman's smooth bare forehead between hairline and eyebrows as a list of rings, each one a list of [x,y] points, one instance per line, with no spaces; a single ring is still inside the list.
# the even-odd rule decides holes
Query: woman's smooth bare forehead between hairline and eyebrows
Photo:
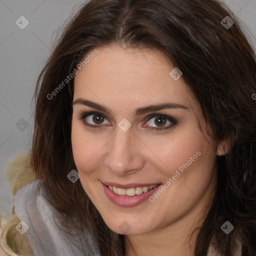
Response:
[[[137,105],[173,101],[192,106],[191,92],[182,80],[174,80],[174,68],[156,49],[122,48],[118,45],[97,47],[88,52],[88,62],[74,78],[74,99],[85,97],[102,102]],[[84,56],[84,57],[86,57]],[[195,103],[195,102],[194,102]],[[132,104],[132,105],[131,105]]]

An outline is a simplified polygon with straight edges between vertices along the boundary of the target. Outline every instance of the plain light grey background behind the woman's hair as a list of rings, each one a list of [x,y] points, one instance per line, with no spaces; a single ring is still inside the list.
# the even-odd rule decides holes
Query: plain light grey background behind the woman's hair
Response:
[[[73,6],[82,2],[0,0],[0,212],[5,215],[10,214],[12,202],[4,169],[11,157],[30,146],[31,98],[37,76],[52,48],[56,29],[71,14]],[[256,49],[256,0],[224,2],[248,27],[250,41]],[[24,29],[15,24],[20,16],[29,21]],[[16,127],[21,118],[29,124],[23,131]]]

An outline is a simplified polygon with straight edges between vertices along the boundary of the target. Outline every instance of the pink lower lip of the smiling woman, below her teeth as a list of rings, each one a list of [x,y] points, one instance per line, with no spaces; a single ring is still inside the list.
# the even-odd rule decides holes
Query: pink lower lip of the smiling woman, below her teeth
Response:
[[[161,184],[155,186],[153,189],[143,192],[142,194],[136,194],[133,196],[129,195],[119,195],[114,193],[112,190],[108,188],[108,186],[102,184],[105,190],[105,194],[108,197],[108,199],[113,202],[114,204],[118,206],[124,206],[124,207],[131,207],[138,205],[142,202],[144,202],[146,199],[149,198],[149,196],[157,190]]]

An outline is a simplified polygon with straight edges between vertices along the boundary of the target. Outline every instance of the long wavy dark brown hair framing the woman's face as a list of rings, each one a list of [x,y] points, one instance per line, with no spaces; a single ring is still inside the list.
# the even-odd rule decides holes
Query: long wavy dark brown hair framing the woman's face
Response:
[[[226,16],[234,21],[229,29],[221,24]],[[194,255],[205,256],[213,240],[221,255],[231,255],[237,237],[243,255],[256,254],[256,58],[241,21],[218,0],[92,0],[65,24],[37,80],[30,151],[31,166],[62,227],[70,237],[72,228],[81,233],[89,228],[102,256],[124,255],[124,235],[106,226],[80,181],[66,177],[76,169],[73,79],[47,97],[86,53],[110,44],[165,54],[182,70],[215,141],[230,143],[229,151],[217,156],[217,188]],[[226,220],[234,226],[228,235],[220,228]]]

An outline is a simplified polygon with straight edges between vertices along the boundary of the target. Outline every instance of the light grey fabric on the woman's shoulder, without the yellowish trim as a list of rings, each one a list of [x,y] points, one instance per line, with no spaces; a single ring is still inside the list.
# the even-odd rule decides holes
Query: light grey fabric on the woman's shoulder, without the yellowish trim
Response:
[[[43,180],[35,179],[22,187],[13,197],[13,202],[34,252],[43,256],[100,255],[88,230],[73,236],[64,232],[59,213],[45,198]]]

